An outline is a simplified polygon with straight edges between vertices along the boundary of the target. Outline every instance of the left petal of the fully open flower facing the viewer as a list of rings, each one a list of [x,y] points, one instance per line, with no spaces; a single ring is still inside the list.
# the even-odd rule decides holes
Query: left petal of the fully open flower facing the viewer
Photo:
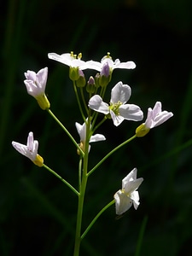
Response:
[[[108,104],[105,102],[102,102],[102,97],[99,95],[92,96],[90,98],[90,102],[88,104],[89,108],[100,112],[100,113],[109,113]]]

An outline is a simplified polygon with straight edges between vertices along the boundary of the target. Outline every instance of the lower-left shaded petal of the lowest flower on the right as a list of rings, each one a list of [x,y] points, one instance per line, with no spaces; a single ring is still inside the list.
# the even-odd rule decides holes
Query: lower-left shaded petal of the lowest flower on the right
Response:
[[[132,200],[130,197],[126,196],[125,193],[122,193],[121,190],[115,193],[115,208],[116,214],[120,215],[129,210],[132,205]]]

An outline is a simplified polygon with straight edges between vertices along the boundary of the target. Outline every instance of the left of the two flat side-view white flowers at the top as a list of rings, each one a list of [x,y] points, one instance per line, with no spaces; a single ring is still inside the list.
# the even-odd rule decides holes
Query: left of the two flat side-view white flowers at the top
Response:
[[[86,62],[81,61],[81,54],[73,55],[73,51],[71,53],[65,53],[62,55],[57,55],[55,53],[48,54],[49,59],[54,61],[59,61],[62,64],[65,64],[69,67],[79,67],[79,69],[84,70],[87,68]]]

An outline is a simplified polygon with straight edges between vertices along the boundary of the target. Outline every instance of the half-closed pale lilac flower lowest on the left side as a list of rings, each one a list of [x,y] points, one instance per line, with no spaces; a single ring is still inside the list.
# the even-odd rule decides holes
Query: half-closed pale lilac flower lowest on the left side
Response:
[[[13,147],[27,158],[32,160],[36,166],[43,166],[44,159],[38,154],[38,141],[33,139],[32,131],[29,132],[26,145],[12,142]]]

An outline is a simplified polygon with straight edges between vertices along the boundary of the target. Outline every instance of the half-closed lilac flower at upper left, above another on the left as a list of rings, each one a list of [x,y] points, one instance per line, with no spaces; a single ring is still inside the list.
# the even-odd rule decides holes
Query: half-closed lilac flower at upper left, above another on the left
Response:
[[[26,77],[26,80],[24,80],[24,84],[26,84],[27,93],[33,96],[38,101],[38,105],[40,108],[49,108],[50,103],[44,93],[47,84],[48,68],[44,67],[39,70],[38,73],[27,70],[27,72],[24,74]]]

